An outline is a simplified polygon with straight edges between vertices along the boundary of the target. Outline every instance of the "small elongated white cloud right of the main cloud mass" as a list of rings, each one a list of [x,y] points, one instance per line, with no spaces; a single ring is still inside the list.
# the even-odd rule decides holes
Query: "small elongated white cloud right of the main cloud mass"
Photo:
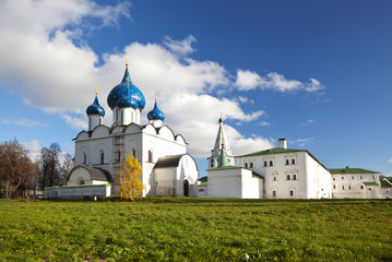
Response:
[[[302,83],[297,80],[287,80],[284,75],[276,72],[271,72],[265,76],[261,76],[257,72],[249,70],[237,70],[235,86],[240,91],[261,88],[274,90],[283,93],[293,91],[317,92],[324,90],[324,86],[314,79],[310,79],[309,83]]]

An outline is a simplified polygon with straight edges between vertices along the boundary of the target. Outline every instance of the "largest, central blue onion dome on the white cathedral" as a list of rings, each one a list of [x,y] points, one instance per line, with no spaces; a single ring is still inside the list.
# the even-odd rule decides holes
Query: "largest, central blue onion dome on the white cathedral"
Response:
[[[120,100],[121,106],[119,105]],[[132,84],[131,76],[128,72],[128,67],[126,68],[122,82],[110,91],[107,97],[107,104],[111,109],[115,107],[132,107],[134,109],[142,110],[145,107],[144,95],[136,86]]]

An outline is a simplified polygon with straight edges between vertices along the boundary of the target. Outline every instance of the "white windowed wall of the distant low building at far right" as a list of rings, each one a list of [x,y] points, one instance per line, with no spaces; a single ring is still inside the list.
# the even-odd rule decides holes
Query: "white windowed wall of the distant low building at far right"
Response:
[[[377,182],[380,184],[380,174],[333,174],[332,195],[335,199],[381,198],[379,187],[366,187],[364,182]]]

